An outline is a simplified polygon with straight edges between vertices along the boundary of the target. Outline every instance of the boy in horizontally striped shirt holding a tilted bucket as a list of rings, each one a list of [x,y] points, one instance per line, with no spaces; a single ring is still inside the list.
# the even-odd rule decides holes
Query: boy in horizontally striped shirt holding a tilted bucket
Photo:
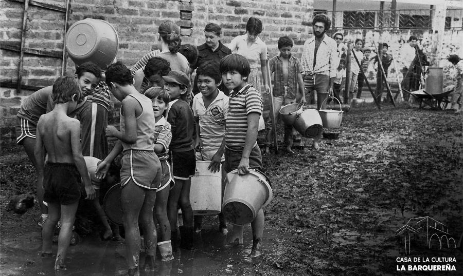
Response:
[[[247,83],[251,72],[250,65],[242,55],[230,54],[220,61],[220,72],[223,83],[230,90],[225,137],[219,149],[220,151],[225,148],[223,169],[227,173],[237,169],[241,175],[248,173],[250,168],[261,170],[262,155],[256,139],[263,102],[260,92]],[[251,223],[252,258],[262,254],[263,225],[264,214],[260,209],[256,219]],[[243,243],[243,228],[244,226],[234,225],[230,239],[234,245]]]

